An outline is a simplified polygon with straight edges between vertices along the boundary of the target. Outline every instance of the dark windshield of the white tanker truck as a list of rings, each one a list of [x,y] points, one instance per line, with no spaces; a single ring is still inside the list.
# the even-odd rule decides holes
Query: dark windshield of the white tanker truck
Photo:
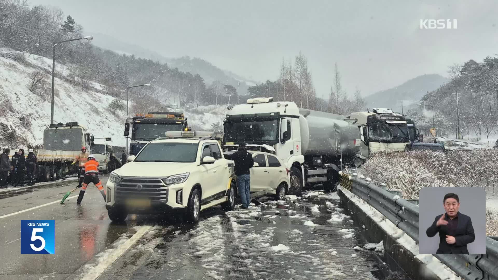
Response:
[[[224,131],[225,141],[276,141],[278,137],[277,128],[277,120],[237,123],[227,122]]]

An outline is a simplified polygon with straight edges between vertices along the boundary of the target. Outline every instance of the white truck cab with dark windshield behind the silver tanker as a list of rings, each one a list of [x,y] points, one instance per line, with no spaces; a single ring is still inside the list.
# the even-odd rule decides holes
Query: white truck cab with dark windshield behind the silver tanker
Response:
[[[385,108],[355,112],[347,116],[356,120],[360,129],[362,156],[368,158],[374,152],[404,151],[410,142],[405,116]]]

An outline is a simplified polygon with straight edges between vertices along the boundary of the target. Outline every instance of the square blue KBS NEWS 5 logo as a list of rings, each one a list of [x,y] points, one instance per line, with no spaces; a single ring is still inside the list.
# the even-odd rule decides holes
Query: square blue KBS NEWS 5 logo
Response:
[[[55,254],[55,220],[21,220],[21,254]]]

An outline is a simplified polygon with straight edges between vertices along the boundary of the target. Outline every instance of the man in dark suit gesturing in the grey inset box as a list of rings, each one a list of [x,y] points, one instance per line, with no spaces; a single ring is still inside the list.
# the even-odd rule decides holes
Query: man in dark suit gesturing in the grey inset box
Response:
[[[467,244],[476,239],[471,218],[458,212],[460,201],[454,193],[444,196],[443,206],[446,213],[436,216],[426,231],[428,237],[439,233],[436,254],[469,254]]]

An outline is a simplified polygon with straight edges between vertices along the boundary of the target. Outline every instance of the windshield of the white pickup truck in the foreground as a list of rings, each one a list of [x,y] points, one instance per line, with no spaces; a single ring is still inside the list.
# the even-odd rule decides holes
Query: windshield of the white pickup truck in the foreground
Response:
[[[149,143],[134,161],[195,162],[199,143]]]

